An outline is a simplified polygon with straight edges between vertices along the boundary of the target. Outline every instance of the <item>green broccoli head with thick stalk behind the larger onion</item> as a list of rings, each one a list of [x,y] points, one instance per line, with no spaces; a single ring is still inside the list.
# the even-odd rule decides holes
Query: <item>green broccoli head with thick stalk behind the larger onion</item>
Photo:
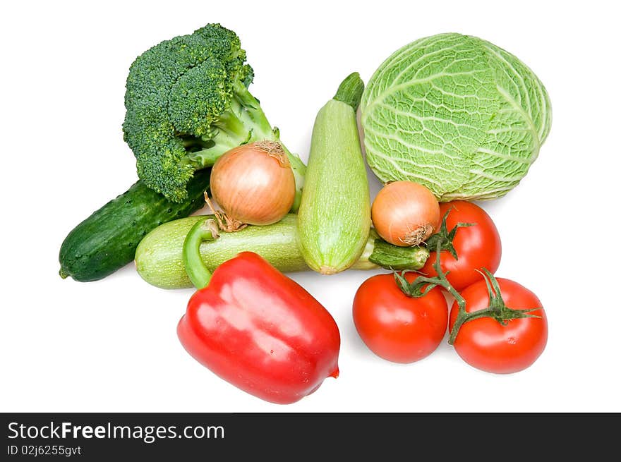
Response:
[[[246,142],[279,142],[278,129],[248,91],[252,80],[239,37],[219,24],[138,56],[127,78],[123,138],[140,179],[181,202],[194,172],[212,166],[224,152]],[[298,205],[306,166],[283,149],[296,176]]]

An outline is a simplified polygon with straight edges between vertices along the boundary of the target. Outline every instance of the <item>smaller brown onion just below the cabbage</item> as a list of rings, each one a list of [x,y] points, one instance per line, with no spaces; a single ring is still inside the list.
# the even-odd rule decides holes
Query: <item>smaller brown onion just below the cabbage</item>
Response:
[[[412,181],[387,183],[371,207],[375,231],[401,247],[418,245],[440,226],[440,205],[425,186]]]

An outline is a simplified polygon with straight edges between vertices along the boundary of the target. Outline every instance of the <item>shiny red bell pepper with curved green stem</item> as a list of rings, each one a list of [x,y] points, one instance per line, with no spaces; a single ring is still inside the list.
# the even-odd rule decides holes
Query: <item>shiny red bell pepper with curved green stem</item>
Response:
[[[200,288],[177,334],[193,358],[236,387],[273,403],[293,403],[337,377],[340,336],[325,308],[255,253],[243,252],[213,276],[200,258],[212,221],[188,233],[186,270]],[[208,284],[208,285],[207,285]]]

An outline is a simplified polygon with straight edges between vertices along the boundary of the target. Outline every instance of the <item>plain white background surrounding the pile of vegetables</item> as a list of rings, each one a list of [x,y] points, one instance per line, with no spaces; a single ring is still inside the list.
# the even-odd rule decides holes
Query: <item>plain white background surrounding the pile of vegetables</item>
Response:
[[[618,11],[614,2],[14,2],[1,35],[0,411],[621,411]],[[287,146],[308,157],[318,109],[351,71],[366,81],[419,37],[462,32],[522,59],[550,93],[553,126],[529,175],[483,207],[501,234],[498,276],[548,314],[541,358],[475,370],[443,343],[411,365],[364,346],[351,320],[371,274],[292,277],[339,324],[341,376],[290,406],[239,391],[176,338],[191,290],[58,276],[79,221],[135,181],[121,134],[128,67],[205,23],[241,37],[251,87]],[[378,182],[370,177],[375,194]]]

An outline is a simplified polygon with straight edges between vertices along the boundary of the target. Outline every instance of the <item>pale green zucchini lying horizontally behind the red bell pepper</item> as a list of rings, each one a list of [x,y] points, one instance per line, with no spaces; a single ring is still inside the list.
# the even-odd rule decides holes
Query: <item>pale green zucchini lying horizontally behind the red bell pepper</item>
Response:
[[[148,233],[135,252],[138,274],[160,288],[192,287],[183,266],[183,241],[196,221],[203,218],[195,216],[169,221]],[[215,241],[200,245],[200,255],[210,271],[243,251],[258,253],[282,272],[309,269],[298,245],[297,217],[294,214],[288,214],[275,224],[221,233]],[[428,256],[426,248],[397,247],[383,241],[371,230],[360,259],[351,268],[420,269]]]

